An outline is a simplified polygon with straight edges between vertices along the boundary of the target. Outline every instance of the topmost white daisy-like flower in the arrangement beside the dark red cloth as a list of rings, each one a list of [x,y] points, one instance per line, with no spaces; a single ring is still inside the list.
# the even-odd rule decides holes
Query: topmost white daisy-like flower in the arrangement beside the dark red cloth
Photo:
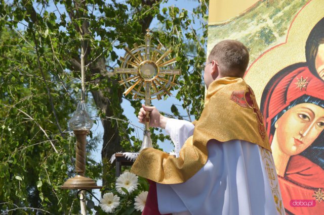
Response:
[[[116,180],[116,189],[118,193],[120,194],[126,194],[123,190],[121,190],[122,187],[127,189],[129,193],[132,193],[135,189],[137,189],[138,185],[138,177],[137,175],[130,173],[130,172],[124,172],[121,174],[117,180]]]

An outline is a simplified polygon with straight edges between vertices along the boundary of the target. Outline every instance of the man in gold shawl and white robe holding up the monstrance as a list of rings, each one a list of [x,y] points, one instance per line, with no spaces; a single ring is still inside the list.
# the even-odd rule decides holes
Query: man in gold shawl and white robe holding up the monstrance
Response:
[[[176,156],[146,148],[131,172],[149,180],[143,214],[284,214],[263,118],[242,79],[247,47],[236,40],[214,46],[204,71],[205,108],[193,123],[142,106],[138,119],[166,129]]]

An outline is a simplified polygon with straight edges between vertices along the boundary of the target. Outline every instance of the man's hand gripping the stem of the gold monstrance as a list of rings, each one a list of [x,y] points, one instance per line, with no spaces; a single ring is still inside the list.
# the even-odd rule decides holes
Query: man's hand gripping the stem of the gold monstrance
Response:
[[[163,129],[166,128],[166,124],[169,118],[161,115],[154,106],[145,106],[144,104],[142,104],[142,108],[140,112],[138,112],[138,122],[145,124],[145,115],[147,111],[150,112],[150,127],[159,127]]]

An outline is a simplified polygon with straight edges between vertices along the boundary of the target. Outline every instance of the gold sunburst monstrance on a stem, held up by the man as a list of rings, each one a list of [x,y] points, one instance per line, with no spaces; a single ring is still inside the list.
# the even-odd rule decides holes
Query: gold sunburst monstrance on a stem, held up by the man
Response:
[[[127,88],[125,95],[132,93],[134,99],[145,99],[145,105],[151,105],[151,99],[161,99],[161,95],[171,95],[170,89],[175,86],[175,76],[180,75],[181,70],[173,69],[172,64],[175,58],[169,60],[172,49],[163,52],[163,45],[157,47],[151,46],[151,35],[146,30],[145,45],[138,46],[134,44],[134,48],[130,50],[125,48],[126,55],[120,58],[123,62],[120,68],[115,68],[114,72],[121,74],[120,85]],[[137,87],[136,87],[137,86]],[[149,130],[149,113],[146,114],[146,123],[144,138],[141,149],[152,147],[151,133]]]

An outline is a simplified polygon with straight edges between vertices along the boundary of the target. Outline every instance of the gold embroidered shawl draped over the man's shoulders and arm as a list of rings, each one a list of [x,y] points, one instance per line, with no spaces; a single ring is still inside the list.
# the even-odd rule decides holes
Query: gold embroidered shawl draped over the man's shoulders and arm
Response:
[[[180,156],[145,148],[131,172],[161,184],[183,183],[206,164],[207,143],[211,139],[219,144],[245,140],[271,151],[262,119],[254,93],[242,78],[215,80],[208,88],[203,113],[193,122],[193,135],[184,143]]]

